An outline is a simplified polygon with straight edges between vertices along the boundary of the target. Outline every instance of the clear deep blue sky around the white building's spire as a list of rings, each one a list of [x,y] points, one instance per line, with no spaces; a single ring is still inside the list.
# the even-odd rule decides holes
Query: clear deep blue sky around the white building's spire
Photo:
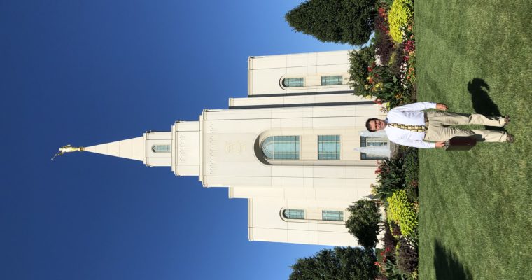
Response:
[[[248,241],[246,200],[169,167],[50,161],[226,109],[248,56],[352,48],[292,31],[298,3],[0,1],[0,279],[287,279],[323,248]]]

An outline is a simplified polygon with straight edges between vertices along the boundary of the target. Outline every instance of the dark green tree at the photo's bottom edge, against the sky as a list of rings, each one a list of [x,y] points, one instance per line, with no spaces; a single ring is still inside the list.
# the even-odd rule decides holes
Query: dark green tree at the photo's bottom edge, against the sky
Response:
[[[373,251],[362,248],[323,249],[291,266],[290,280],[367,280],[377,276]]]

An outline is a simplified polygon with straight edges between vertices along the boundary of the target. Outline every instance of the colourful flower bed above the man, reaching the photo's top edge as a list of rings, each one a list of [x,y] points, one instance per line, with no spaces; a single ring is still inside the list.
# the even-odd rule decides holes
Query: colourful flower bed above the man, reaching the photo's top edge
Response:
[[[350,83],[354,94],[374,99],[388,111],[415,101],[414,10],[409,0],[377,3],[372,44],[351,52]]]

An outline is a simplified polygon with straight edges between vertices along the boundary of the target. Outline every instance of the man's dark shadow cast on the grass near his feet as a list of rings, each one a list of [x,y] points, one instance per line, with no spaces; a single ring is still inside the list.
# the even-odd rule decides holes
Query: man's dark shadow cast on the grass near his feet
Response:
[[[474,78],[468,83],[468,92],[475,113],[484,116],[501,116],[497,104],[489,98],[489,85],[481,78]],[[503,127],[487,127],[486,130],[504,130]]]

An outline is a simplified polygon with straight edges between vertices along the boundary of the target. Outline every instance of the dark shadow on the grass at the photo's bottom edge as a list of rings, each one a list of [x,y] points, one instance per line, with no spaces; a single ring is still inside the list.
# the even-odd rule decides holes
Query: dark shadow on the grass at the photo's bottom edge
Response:
[[[469,269],[461,264],[454,253],[446,250],[440,241],[435,241],[434,250],[434,268],[437,280],[472,280]]]

